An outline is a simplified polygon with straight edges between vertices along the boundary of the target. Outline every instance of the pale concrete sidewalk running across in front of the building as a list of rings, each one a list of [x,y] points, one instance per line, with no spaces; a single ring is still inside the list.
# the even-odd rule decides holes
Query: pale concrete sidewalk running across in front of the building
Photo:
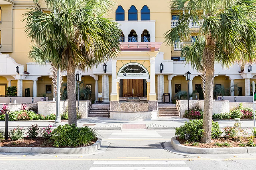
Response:
[[[185,121],[188,119],[177,118],[177,117],[168,117],[168,118],[158,118],[157,120],[144,120],[144,121],[121,121],[121,120],[113,120],[110,118],[104,117],[93,117],[86,119],[77,120],[78,127],[89,126],[92,128],[96,128],[97,130],[120,130],[122,129],[124,124],[134,124],[134,126],[138,124],[143,124],[146,126],[146,129],[175,129],[176,127],[180,127],[184,125]],[[233,126],[234,120],[215,120],[219,123],[221,128],[227,126]],[[62,121],[62,125],[68,123],[68,121]],[[242,128],[253,128],[253,120],[241,120]],[[53,125],[54,121],[9,121],[9,128],[20,127],[27,128],[32,124],[38,124],[41,127],[46,127],[48,125]],[[5,122],[0,121],[0,128],[4,128]]]

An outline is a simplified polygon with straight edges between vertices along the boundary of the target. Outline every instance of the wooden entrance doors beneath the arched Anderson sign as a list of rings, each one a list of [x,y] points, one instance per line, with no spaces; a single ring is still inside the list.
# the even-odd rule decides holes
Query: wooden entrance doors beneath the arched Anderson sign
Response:
[[[128,63],[122,66],[117,74],[120,79],[120,97],[146,97],[149,73],[139,63]]]

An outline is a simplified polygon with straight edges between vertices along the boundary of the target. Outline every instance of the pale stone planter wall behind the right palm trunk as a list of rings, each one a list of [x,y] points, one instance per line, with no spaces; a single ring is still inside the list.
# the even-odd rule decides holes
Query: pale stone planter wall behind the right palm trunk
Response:
[[[187,110],[187,100],[177,100],[178,112],[180,117],[183,117]],[[189,108],[193,108],[196,104],[199,104],[200,108],[204,110],[204,100],[189,100]],[[215,100],[213,101],[213,114],[214,113],[225,113],[229,112],[229,101],[228,100]]]

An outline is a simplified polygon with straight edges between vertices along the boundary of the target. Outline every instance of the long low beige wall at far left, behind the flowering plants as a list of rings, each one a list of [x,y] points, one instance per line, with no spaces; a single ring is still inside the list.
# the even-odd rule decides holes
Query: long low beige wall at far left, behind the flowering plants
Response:
[[[31,103],[32,102],[32,97],[0,97],[0,103],[5,103],[8,104],[10,103],[10,98],[11,102],[14,103],[16,100],[16,103]],[[34,98],[34,103],[37,103],[38,101],[41,101],[44,99],[44,97],[33,97]],[[46,97],[46,101],[48,101],[48,97]]]

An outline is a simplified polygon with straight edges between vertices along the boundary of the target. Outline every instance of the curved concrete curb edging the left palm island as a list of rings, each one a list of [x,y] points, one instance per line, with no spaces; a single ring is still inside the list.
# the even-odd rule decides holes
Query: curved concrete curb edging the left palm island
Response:
[[[28,154],[90,154],[100,150],[102,139],[93,145],[78,148],[52,148],[52,147],[0,147],[0,153],[28,153]]]

